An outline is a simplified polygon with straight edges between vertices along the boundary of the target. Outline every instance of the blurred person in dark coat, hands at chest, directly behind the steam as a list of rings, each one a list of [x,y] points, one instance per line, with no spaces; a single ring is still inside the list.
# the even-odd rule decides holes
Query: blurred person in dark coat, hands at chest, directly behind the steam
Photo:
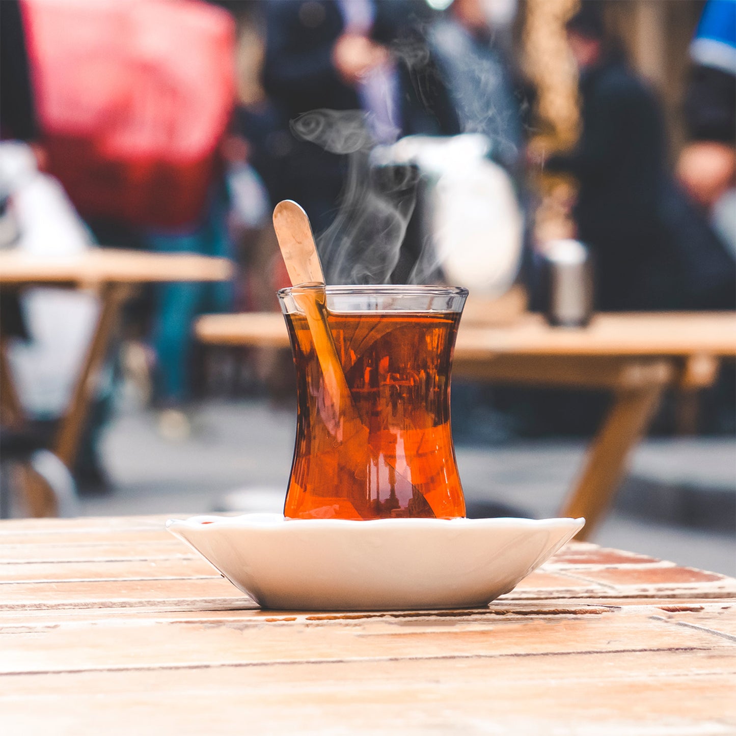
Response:
[[[423,1],[270,0],[264,88],[282,130],[302,113],[328,109],[368,113],[377,143],[459,132],[416,33],[426,12]],[[283,142],[271,198],[300,202],[315,232],[324,230],[343,188],[343,157],[289,134]]]

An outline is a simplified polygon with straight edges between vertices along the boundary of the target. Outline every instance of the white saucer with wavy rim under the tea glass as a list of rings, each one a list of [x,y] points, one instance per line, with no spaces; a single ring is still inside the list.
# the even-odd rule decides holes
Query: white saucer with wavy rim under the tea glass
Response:
[[[293,520],[197,516],[167,529],[262,608],[477,608],[512,590],[584,519]]]

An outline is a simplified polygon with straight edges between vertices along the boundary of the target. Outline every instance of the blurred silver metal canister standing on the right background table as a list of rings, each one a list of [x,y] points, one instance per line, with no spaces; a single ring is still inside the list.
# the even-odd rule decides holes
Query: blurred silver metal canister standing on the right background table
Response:
[[[584,327],[593,315],[593,266],[588,249],[572,239],[544,245],[547,322]]]

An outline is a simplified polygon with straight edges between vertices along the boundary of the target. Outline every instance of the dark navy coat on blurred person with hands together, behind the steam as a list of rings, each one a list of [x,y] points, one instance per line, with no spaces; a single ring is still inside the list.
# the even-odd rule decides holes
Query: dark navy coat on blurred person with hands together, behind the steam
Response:
[[[379,1],[371,36],[377,43],[399,49],[402,135],[451,135],[459,132],[458,119],[427,45],[416,32],[416,16],[426,9],[424,0]],[[297,141],[288,130],[290,121],[310,110],[360,109],[357,91],[340,79],[332,65],[332,49],[344,29],[343,15],[335,0],[270,0],[265,10],[264,88],[281,121],[281,144],[285,144],[279,160],[273,162],[278,174],[272,178],[270,194],[274,200],[296,199],[315,231],[323,230],[337,212],[346,177],[345,157]],[[421,64],[415,63],[417,59]]]

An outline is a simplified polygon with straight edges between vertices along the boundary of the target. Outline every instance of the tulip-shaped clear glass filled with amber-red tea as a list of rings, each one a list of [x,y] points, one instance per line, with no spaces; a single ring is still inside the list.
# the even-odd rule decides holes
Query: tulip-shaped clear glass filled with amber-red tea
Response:
[[[298,400],[285,516],[465,516],[449,378],[467,294],[443,286],[278,292]],[[326,340],[310,331],[315,314],[329,327],[320,330]]]

